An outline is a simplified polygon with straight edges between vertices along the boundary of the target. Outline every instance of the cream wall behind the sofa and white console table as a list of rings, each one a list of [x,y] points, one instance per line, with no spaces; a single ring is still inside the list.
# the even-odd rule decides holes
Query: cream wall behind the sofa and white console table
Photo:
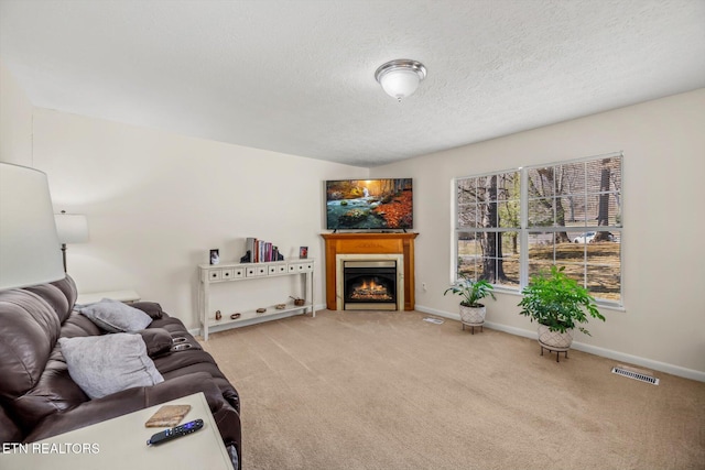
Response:
[[[196,265],[218,248],[245,254],[245,239],[284,255],[323,254],[323,181],[367,168],[249,149],[45,109],[34,111],[34,166],[47,173],[54,208],[88,217],[90,240],[68,247],[79,292],[134,288],[198,327]],[[315,273],[323,305],[323,263]],[[285,302],[292,278],[229,283],[224,314]],[[301,292],[303,294],[303,292]]]

